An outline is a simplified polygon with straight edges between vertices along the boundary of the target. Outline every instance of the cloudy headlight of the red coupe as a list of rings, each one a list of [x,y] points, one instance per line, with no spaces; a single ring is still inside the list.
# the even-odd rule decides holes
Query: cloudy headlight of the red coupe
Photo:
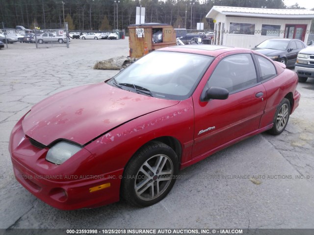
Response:
[[[60,141],[54,144],[47,153],[46,160],[54,164],[62,164],[82,148],[73,143]]]

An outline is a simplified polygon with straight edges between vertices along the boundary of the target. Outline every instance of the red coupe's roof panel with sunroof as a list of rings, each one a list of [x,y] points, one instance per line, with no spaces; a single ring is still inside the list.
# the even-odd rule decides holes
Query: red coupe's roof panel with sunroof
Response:
[[[218,56],[229,51],[241,51],[252,52],[251,49],[239,48],[239,47],[227,47],[227,46],[216,46],[216,45],[184,45],[184,46],[173,46],[173,47],[163,47],[157,51],[174,51],[183,53],[193,53],[209,56]]]

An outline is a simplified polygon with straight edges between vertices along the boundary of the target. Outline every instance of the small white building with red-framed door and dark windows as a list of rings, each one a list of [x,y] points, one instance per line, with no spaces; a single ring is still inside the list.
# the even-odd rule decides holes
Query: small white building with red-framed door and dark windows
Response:
[[[206,18],[214,20],[213,44],[252,48],[269,38],[308,41],[314,11],[213,6]]]

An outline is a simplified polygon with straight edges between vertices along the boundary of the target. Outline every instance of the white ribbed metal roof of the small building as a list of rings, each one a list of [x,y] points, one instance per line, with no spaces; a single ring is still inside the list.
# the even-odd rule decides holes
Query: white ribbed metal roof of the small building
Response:
[[[228,16],[260,17],[260,18],[281,18],[281,19],[312,19],[314,11],[301,9],[270,9],[270,8],[249,8],[235,6],[213,6],[206,18],[215,19],[218,14]]]

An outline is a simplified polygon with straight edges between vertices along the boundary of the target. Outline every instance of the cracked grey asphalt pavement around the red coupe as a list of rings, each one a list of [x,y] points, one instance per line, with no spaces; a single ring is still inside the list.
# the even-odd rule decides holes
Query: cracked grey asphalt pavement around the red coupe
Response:
[[[23,188],[8,151],[15,123],[51,94],[112,77],[117,71],[93,66],[127,56],[128,43],[75,39],[70,48],[0,50],[0,228],[314,228],[313,78],[298,85],[300,106],[280,136],[260,134],[184,169],[154,206],[60,211]]]

